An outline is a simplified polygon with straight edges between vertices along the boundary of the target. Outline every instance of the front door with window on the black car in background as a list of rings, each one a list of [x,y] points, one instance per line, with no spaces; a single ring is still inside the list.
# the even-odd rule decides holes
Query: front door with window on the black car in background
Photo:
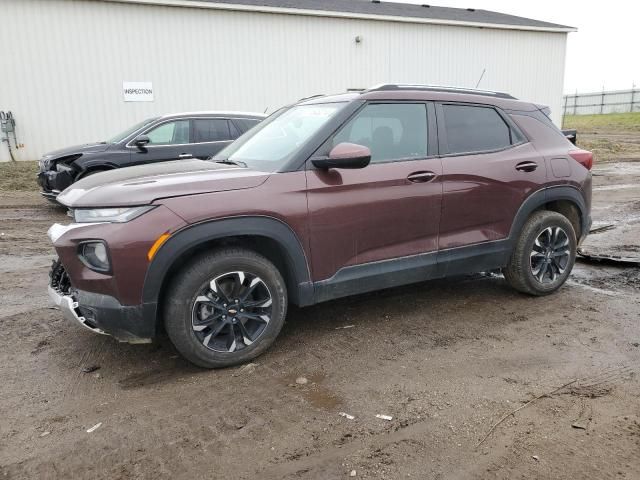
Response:
[[[162,162],[179,158],[192,158],[193,152],[189,144],[189,119],[173,119],[154,125],[144,132],[149,137],[149,143],[144,149],[133,145],[131,161],[134,164]]]

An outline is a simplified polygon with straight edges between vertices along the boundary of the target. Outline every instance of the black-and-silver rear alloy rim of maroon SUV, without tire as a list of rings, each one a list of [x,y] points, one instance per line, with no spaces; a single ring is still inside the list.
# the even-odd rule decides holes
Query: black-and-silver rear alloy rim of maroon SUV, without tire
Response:
[[[555,282],[569,265],[571,256],[569,236],[560,227],[545,228],[531,251],[531,273],[542,284]]]

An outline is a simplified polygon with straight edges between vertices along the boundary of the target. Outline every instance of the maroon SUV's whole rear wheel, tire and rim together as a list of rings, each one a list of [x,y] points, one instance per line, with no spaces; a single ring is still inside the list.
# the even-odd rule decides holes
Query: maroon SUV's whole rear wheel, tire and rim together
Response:
[[[576,233],[565,216],[546,210],[535,212],[522,227],[502,273],[519,292],[548,295],[569,277],[576,248]]]

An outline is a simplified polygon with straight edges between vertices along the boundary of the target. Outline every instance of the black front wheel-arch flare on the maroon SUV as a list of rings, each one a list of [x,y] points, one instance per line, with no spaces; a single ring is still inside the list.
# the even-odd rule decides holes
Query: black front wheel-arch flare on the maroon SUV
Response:
[[[293,230],[284,222],[267,216],[232,217],[190,225],[173,234],[158,250],[147,269],[142,289],[144,316],[156,318],[157,305],[165,277],[176,260],[205,242],[235,236],[267,237],[282,247],[294,285],[289,296],[293,303],[309,305],[313,285],[304,249]]]

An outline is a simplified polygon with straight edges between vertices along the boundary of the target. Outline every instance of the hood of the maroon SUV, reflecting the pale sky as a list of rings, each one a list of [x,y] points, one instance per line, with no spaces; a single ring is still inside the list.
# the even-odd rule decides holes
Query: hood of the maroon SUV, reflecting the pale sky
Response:
[[[154,200],[257,187],[269,174],[205,160],[177,160],[109,170],[63,191],[67,207],[126,207]]]

